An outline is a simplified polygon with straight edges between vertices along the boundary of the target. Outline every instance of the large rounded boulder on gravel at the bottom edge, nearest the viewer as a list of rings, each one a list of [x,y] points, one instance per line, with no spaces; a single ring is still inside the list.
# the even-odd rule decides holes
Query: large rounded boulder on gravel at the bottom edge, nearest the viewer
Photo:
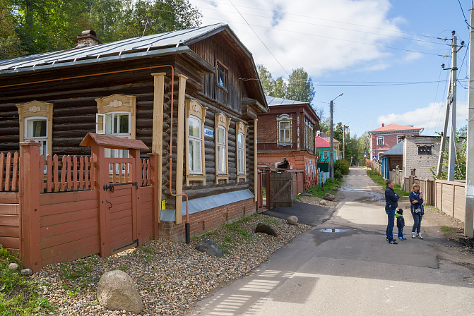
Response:
[[[121,270],[102,274],[97,287],[97,301],[108,310],[140,314],[143,302],[133,279]]]

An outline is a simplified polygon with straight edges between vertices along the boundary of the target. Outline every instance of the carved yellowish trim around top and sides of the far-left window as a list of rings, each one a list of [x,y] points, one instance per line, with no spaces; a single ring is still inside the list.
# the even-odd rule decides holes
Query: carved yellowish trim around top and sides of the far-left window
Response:
[[[31,101],[23,104],[16,104],[20,121],[20,142],[25,141],[25,119],[32,117],[42,117],[47,119],[47,140],[48,154],[52,154],[53,147],[53,104]]]

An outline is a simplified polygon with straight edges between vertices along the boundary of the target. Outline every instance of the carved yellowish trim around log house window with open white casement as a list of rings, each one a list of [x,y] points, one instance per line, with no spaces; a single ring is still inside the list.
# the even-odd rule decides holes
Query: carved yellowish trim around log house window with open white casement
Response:
[[[130,138],[135,139],[136,135],[136,97],[133,95],[109,95],[97,102],[97,114],[107,114],[110,112],[130,113]]]

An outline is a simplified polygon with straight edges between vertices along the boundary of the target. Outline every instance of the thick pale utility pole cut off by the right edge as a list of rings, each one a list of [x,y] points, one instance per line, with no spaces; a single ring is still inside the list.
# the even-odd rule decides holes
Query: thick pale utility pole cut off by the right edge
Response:
[[[474,5],[470,6],[470,25],[474,25]],[[464,235],[474,237],[474,30],[469,32],[469,110],[468,110],[468,157],[466,162],[466,211],[464,212]]]

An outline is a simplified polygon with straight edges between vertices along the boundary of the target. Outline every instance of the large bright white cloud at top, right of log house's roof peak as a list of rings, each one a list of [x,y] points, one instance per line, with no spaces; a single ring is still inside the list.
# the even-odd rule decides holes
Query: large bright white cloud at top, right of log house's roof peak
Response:
[[[287,77],[286,72],[298,67],[316,77],[351,66],[363,69],[376,64],[375,68],[383,69],[391,56],[384,46],[395,40],[385,35],[398,35],[387,30],[398,31],[397,24],[403,23],[401,18],[388,18],[389,0],[240,0],[234,4],[261,40],[230,2],[191,0],[203,13],[203,25],[229,24],[255,62],[263,63],[273,77]]]

